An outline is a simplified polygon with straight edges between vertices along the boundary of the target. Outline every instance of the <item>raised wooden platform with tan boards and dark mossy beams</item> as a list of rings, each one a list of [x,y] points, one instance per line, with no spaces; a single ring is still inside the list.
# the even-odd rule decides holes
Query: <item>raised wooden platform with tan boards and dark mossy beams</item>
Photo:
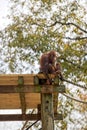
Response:
[[[64,86],[36,85],[34,82],[35,76],[36,74],[0,75],[0,109],[21,109],[22,115],[25,115],[27,109],[38,108],[38,105],[41,104],[41,93],[65,91]],[[37,76],[45,78],[43,74],[38,74]],[[54,78],[53,75],[50,75],[50,77]],[[4,115],[1,116],[0,121],[5,119],[15,120],[16,118],[25,120],[28,118],[27,115],[23,117],[22,115],[14,116],[14,118],[13,116]],[[31,119],[40,119],[38,115],[32,116]]]

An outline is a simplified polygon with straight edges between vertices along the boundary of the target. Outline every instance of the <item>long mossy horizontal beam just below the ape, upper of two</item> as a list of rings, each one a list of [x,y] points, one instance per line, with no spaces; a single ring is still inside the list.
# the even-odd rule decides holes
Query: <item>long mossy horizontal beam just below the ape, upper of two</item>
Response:
[[[52,85],[23,85],[20,88],[19,85],[0,85],[0,93],[53,93],[53,92],[65,92],[65,86],[52,86]]]

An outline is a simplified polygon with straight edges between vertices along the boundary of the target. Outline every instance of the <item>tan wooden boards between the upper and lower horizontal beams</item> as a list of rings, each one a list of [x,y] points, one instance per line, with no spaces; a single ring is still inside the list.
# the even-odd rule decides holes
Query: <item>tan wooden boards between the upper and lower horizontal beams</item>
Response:
[[[40,104],[40,94],[27,93],[25,94],[26,109],[37,108]],[[0,109],[21,109],[19,94],[0,94]]]

